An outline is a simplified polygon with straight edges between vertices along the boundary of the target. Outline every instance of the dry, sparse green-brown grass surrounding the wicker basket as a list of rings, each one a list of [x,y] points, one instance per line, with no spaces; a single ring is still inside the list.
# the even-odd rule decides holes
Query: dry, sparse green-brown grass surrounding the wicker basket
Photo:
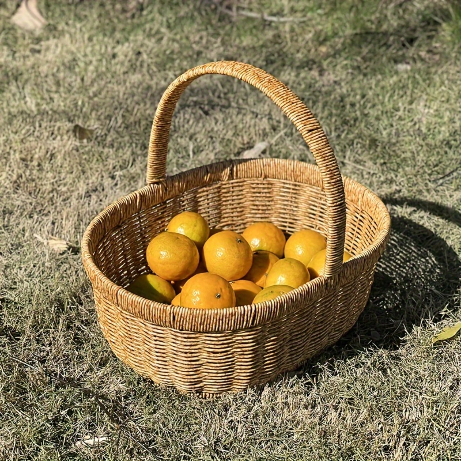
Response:
[[[460,339],[430,344],[461,307],[457,2],[245,4],[307,18],[287,24],[212,1],[144,1],[129,16],[123,2],[39,4],[48,25],[30,33],[0,1],[0,459],[461,459]],[[364,313],[334,347],[261,390],[201,400],[115,358],[78,251],[43,240],[78,248],[95,214],[143,185],[162,92],[217,59],[288,84],[343,173],[386,201],[393,232]],[[95,136],[76,140],[74,124]],[[282,131],[267,155],[312,161],[263,95],[203,77],[175,112],[168,172]],[[79,446],[85,436],[107,440]]]

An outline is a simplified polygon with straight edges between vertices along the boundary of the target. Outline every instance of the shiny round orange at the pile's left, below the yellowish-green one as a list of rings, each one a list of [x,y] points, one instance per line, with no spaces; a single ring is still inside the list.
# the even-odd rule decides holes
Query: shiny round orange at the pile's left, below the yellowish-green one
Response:
[[[199,264],[199,251],[189,237],[162,232],[149,243],[146,258],[151,271],[161,278],[181,280],[194,273]]]

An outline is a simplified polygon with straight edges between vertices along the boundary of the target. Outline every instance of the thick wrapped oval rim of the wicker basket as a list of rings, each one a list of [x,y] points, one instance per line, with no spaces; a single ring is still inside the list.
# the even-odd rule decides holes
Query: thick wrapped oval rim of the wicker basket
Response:
[[[89,244],[92,237],[94,236],[97,226],[101,226],[106,215],[110,215],[110,213],[113,213],[119,207],[126,207],[127,204],[133,201],[139,207],[140,194],[147,194],[151,192],[153,188],[165,188],[166,182],[175,182],[178,180],[180,181],[181,179],[184,179],[188,175],[196,173],[197,171],[207,172],[209,167],[221,166],[224,168],[225,166],[235,165],[236,163],[240,163],[242,161],[244,162],[245,160],[225,160],[179,172],[175,175],[167,177],[165,180],[159,181],[158,183],[148,184],[140,189],[136,189],[130,194],[124,195],[117,201],[112,202],[112,204],[100,211],[100,213],[98,213],[91,220],[85,229],[81,242],[83,266],[91,281],[92,287],[94,288],[95,284],[97,284],[98,289],[104,291],[105,296],[112,298],[112,301],[119,309],[130,313],[142,321],[150,322],[161,327],[190,332],[234,331],[248,329],[250,327],[253,328],[254,326],[268,323],[273,319],[278,318],[280,315],[288,313],[288,311],[291,310],[291,307],[297,304],[296,301],[300,301],[301,298],[303,300],[308,299],[309,301],[315,301],[319,299],[325,294],[327,287],[331,288],[332,286],[338,285],[344,267],[350,268],[350,270],[352,270],[354,273],[360,273],[361,268],[363,267],[366,260],[372,257],[373,254],[378,254],[378,256],[380,256],[383,253],[390,234],[390,215],[387,207],[384,205],[383,201],[381,201],[381,199],[376,194],[374,194],[374,192],[372,192],[372,190],[368,189],[361,183],[358,183],[354,179],[342,175],[345,193],[347,190],[353,188],[356,192],[358,191],[359,194],[367,195],[367,198],[376,202],[377,214],[379,214],[381,218],[384,218],[382,229],[377,233],[375,241],[370,246],[362,250],[361,253],[353,255],[351,259],[343,263],[343,268],[338,274],[331,277],[325,277],[324,275],[321,275],[317,278],[314,278],[313,280],[310,280],[306,284],[301,285],[300,287],[285,293],[282,296],[279,296],[276,300],[226,308],[212,307],[207,309],[200,309],[196,307],[173,306],[151,301],[130,293],[129,291],[125,290],[124,287],[112,282],[112,280],[110,280],[96,265],[93,255],[89,251]],[[317,171],[319,170],[317,165],[292,159],[251,159],[251,161],[277,161],[284,163],[295,162],[302,164],[305,168],[312,168]],[[213,183],[220,181],[222,182],[223,180],[218,179],[217,181],[213,181]],[[347,198],[348,195],[346,193],[346,200]],[[160,203],[162,201],[160,201]],[[358,205],[360,206],[360,203],[358,203]],[[111,229],[105,228],[100,238],[102,238],[102,236],[104,236],[110,230]],[[236,328],[229,328],[222,325],[222,321],[220,321],[220,319],[222,320],[226,317],[233,317],[234,319],[245,318],[248,321],[234,322],[240,324],[239,327],[235,325]],[[205,320],[208,318],[208,321],[197,322],[198,318]],[[195,320],[191,321],[191,319]],[[188,325],[190,323],[193,323],[194,325],[197,325],[197,323],[205,325],[201,328],[178,328],[177,326],[177,324]],[[226,323],[229,324],[229,322]]]

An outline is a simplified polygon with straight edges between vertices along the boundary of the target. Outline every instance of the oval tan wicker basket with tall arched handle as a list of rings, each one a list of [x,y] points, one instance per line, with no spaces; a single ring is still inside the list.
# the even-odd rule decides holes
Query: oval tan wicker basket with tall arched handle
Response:
[[[206,74],[239,78],[267,95],[301,132],[318,166],[232,160],[166,177],[177,100]],[[82,240],[101,330],[115,355],[140,375],[183,392],[237,391],[293,370],[354,325],[388,240],[389,213],[369,189],[341,176],[319,122],[276,78],[232,61],[178,77],[155,113],[147,183],[96,216]],[[327,237],[325,275],[275,300],[226,309],[168,306],[124,290],[148,272],[149,241],[185,210],[201,213],[210,227],[237,232],[255,221],[289,234],[316,229]],[[344,248],[354,255],[345,264]]]

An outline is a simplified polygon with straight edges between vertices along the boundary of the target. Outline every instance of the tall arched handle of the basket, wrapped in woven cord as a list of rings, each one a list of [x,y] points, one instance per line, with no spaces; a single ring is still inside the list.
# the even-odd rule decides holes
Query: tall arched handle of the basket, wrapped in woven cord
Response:
[[[212,62],[184,72],[170,84],[160,100],[152,124],[147,183],[165,178],[171,118],[179,97],[196,78],[207,74],[228,75],[253,85],[275,102],[301,133],[319,166],[328,206],[324,274],[327,277],[337,274],[343,264],[346,205],[343,180],[335,155],[322,127],[304,103],[282,82],[257,67],[235,61]]]

